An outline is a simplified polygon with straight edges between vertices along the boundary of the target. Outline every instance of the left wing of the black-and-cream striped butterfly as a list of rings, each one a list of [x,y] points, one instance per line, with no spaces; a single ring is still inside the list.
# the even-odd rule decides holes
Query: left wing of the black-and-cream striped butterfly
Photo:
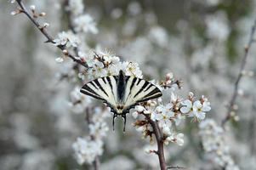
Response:
[[[103,100],[106,105],[111,107],[111,111],[114,111],[117,105],[117,77],[101,77],[87,82],[80,92]]]

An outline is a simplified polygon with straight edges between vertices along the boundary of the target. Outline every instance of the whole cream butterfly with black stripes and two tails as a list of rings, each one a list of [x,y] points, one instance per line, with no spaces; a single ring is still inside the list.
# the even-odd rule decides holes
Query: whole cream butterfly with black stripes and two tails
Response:
[[[125,76],[121,70],[118,76],[100,77],[84,84],[80,90],[95,99],[103,100],[113,112],[112,126],[114,130],[115,119],[122,116],[124,120],[123,132],[126,125],[126,114],[130,109],[149,99],[162,96],[162,92],[151,82],[144,79]]]

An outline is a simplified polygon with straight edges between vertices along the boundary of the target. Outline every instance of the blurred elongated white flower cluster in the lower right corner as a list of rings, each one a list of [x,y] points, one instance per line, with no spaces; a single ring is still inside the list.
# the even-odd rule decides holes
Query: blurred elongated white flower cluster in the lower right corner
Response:
[[[225,143],[225,132],[213,119],[207,119],[199,124],[202,137],[202,147],[220,167],[229,170],[239,170],[230,156],[229,146]]]

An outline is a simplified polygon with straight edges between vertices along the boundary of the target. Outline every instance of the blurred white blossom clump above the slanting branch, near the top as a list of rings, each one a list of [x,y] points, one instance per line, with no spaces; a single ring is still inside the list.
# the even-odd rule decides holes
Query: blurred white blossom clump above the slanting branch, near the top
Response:
[[[96,23],[89,14],[82,14],[81,16],[78,16],[74,20],[74,24],[76,25],[76,31],[83,31],[85,33],[91,32],[93,34],[98,33]]]

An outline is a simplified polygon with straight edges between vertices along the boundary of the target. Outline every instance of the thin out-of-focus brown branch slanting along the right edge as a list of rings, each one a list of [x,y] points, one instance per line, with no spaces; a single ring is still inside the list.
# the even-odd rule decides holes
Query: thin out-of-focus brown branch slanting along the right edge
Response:
[[[251,46],[254,42],[254,37],[253,36],[254,36],[254,33],[255,33],[255,29],[256,29],[256,19],[253,22],[253,26],[252,26],[252,30],[250,32],[249,40],[247,42],[247,45],[244,48],[244,54],[243,54],[243,57],[242,57],[242,63],[241,63],[241,66],[240,66],[240,71],[239,71],[238,77],[236,78],[233,94],[232,94],[231,99],[230,99],[230,104],[228,105],[227,114],[225,116],[225,119],[221,122],[222,127],[224,127],[225,123],[228,122],[230,120],[230,118],[232,117],[231,112],[234,111],[234,105],[235,105],[236,97],[237,97],[237,94],[238,94],[238,87],[239,87],[239,83],[241,82],[241,79],[242,79],[242,72],[244,71],[245,65],[247,63],[247,56],[248,56],[249,49],[251,48]]]

